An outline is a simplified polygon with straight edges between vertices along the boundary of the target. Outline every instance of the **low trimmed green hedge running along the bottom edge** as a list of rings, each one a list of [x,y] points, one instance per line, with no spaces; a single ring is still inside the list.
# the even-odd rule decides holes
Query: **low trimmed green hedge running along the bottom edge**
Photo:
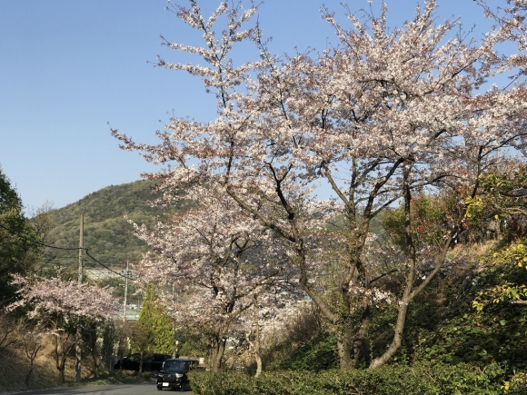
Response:
[[[193,371],[198,395],[485,395],[500,394],[503,371],[492,364],[484,371],[469,365],[416,364],[377,370],[282,370],[258,378],[243,372]]]

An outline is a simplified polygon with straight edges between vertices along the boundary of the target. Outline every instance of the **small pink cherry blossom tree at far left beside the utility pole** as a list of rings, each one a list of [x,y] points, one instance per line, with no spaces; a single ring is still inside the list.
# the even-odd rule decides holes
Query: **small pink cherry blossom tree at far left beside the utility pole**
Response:
[[[83,321],[103,321],[119,310],[117,301],[108,288],[77,281],[63,281],[61,273],[50,279],[14,275],[12,281],[18,300],[8,311],[24,307],[29,321],[53,336],[55,367],[59,379],[65,381],[65,361],[75,347],[75,331]]]

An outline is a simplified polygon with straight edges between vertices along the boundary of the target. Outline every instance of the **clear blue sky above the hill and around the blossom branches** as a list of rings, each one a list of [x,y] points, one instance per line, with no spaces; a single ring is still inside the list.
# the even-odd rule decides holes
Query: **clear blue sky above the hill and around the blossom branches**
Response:
[[[201,4],[208,15],[219,1]],[[273,36],[273,52],[336,43],[320,18],[323,4],[343,15],[334,0],[264,0],[259,17],[264,34]],[[352,10],[369,7],[367,0],[348,4]],[[379,4],[373,0],[376,14]],[[413,17],[417,1],[387,4],[389,23],[397,25]],[[467,27],[488,25],[472,0],[438,4],[438,22],[461,15]],[[153,169],[138,153],[118,148],[107,122],[137,142],[154,143],[167,112],[200,121],[214,117],[214,98],[204,96],[199,79],[147,64],[157,54],[182,60],[160,45],[161,34],[198,43],[196,31],[164,11],[165,5],[164,0],[0,2],[0,165],[25,206],[48,200],[63,207]]]

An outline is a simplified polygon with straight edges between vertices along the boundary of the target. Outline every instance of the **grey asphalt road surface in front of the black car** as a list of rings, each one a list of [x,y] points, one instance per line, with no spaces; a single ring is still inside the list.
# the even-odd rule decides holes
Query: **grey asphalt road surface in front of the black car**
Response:
[[[117,385],[89,385],[85,387],[57,388],[55,390],[32,390],[16,392],[20,395],[66,395],[66,394],[87,394],[87,395],[163,395],[165,392],[178,392],[190,395],[191,391],[185,392],[162,390],[155,387],[155,383],[149,384],[117,384]],[[11,395],[16,395],[11,394]]]

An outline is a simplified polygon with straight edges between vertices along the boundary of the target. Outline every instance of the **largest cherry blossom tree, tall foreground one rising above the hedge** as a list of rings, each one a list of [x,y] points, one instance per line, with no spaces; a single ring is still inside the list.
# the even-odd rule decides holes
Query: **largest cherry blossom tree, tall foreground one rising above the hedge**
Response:
[[[456,35],[460,21],[434,24],[434,0],[394,29],[384,3],[380,16],[362,11],[360,18],[347,9],[350,27],[323,8],[339,45],[316,57],[281,59],[268,51],[259,25],[242,30],[255,6],[243,11],[222,3],[205,21],[197,2],[190,5],[174,5],[174,12],[200,31],[204,47],[164,44],[198,54],[207,65],[158,65],[203,77],[206,91],[218,99],[217,119],[174,117],[155,145],[134,143],[116,130],[114,136],[124,149],[170,164],[144,174],[160,182],[167,201],[183,199],[182,190],[193,194],[212,186],[230,198],[225,202],[236,203],[229,212],[257,220],[262,234],[273,232],[260,242],[280,245],[288,257],[283,263],[298,270],[300,287],[336,335],[341,369],[356,366],[374,289],[389,274],[364,260],[373,218],[403,202],[406,248],[393,341],[370,365],[382,366],[401,345],[409,305],[445,262],[464,199],[475,195],[483,172],[505,160],[497,150],[522,148],[524,87],[484,90],[512,67],[494,49],[506,31],[481,40]],[[221,17],[227,28],[218,37],[214,24]],[[254,41],[260,58],[235,66],[229,51],[244,39]],[[411,202],[424,190],[445,189],[458,195],[460,217],[443,230],[432,269],[418,276],[422,257],[410,229]],[[316,201],[320,191],[330,199]],[[195,210],[184,215],[189,226],[196,221],[192,215]],[[162,249],[171,231],[159,231],[148,242]],[[324,278],[330,265],[339,275]]]

